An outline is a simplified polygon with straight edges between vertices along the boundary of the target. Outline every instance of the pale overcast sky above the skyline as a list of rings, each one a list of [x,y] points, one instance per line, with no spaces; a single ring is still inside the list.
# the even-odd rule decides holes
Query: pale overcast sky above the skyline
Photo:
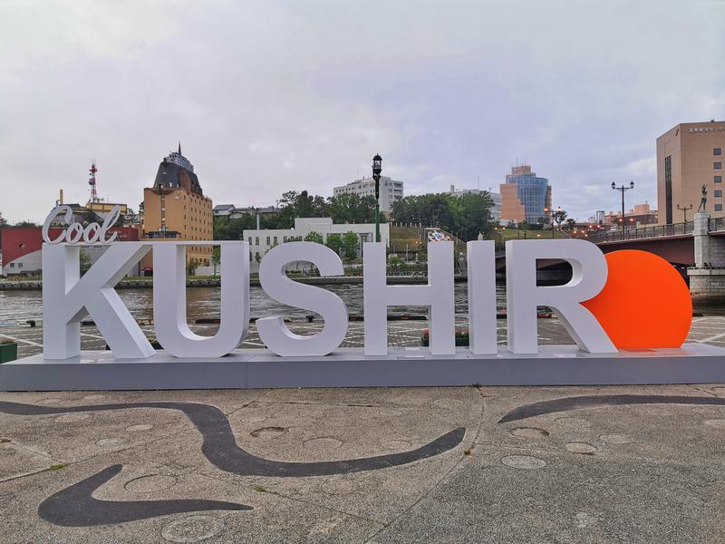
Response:
[[[133,209],[181,141],[215,204],[498,190],[531,164],[555,206],[656,203],[654,142],[725,119],[725,2],[0,0],[0,212],[65,189]],[[656,206],[653,206],[656,207]]]

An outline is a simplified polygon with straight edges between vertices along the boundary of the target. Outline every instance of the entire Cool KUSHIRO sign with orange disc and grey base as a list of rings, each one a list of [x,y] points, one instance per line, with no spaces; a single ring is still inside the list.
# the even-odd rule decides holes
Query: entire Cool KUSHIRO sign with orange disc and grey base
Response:
[[[56,209],[53,217],[68,210]],[[117,212],[116,212],[117,213]],[[111,218],[112,219],[112,218]],[[343,276],[333,250],[288,242],[262,259],[259,281],[276,301],[324,319],[314,335],[293,333],[282,316],[256,320],[267,350],[237,350],[249,323],[249,247],[243,241],[113,242],[112,224],[72,225],[43,245],[43,355],[0,365],[0,389],[186,389],[209,387],[656,384],[725,381],[725,350],[684,345],[691,301],[679,274],[660,257],[617,251],[606,257],[580,239],[511,240],[506,246],[507,346],[498,348],[496,254],[492,241],[468,243],[469,347],[455,346],[453,242],[428,246],[428,284],[389,286],[385,246],[363,246],[364,348],[343,349],[343,300],[285,275],[308,261],[322,276]],[[66,241],[61,241],[66,240]],[[106,244],[81,277],[83,245]],[[186,318],[186,246],[220,246],[221,321],[216,335],[190,330]],[[152,251],[157,352],[114,286]],[[572,279],[536,285],[536,262],[565,260]],[[632,279],[633,281],[630,281]],[[649,292],[649,298],[643,296]],[[662,304],[666,297],[666,304]],[[652,316],[631,311],[642,303]],[[660,306],[657,306],[660,305]],[[389,306],[430,309],[430,350],[389,348]],[[575,342],[539,346],[537,306],[556,312]],[[624,311],[626,308],[627,311]],[[665,313],[666,311],[666,313]],[[111,348],[81,352],[80,324],[90,315]],[[626,352],[623,348],[645,348]],[[662,349],[666,348],[666,349]]]

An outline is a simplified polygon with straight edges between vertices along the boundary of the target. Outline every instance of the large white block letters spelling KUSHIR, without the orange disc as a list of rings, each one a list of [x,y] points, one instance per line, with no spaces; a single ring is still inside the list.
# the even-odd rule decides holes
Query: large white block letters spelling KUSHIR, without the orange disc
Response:
[[[98,325],[117,359],[155,355],[146,336],[121,302],[114,286],[153,248],[153,312],[156,335],[169,354],[181,358],[221,357],[244,341],[249,321],[249,248],[247,242],[206,242],[221,246],[221,324],[213,336],[200,336],[186,319],[185,246],[204,242],[116,242],[79,277],[79,246],[43,246],[43,350],[46,359],[81,353],[80,321],[85,310]],[[495,354],[496,286],[492,241],[469,242],[470,351]],[[430,353],[454,355],[453,243],[431,242],[425,286],[388,286],[385,247],[363,249],[364,355],[387,355],[388,306],[430,307]],[[562,258],[571,263],[572,280],[561,287],[536,286],[536,260]],[[337,349],[347,332],[343,300],[322,288],[285,276],[294,261],[309,261],[322,276],[343,276],[343,262],[332,249],[313,242],[289,242],[271,249],[259,267],[259,281],[276,301],[319,314],[323,330],[295,335],[282,316],[263,317],[256,326],[266,347],[282,356],[322,356]],[[617,349],[582,302],[597,295],[606,281],[602,252],[584,240],[513,241],[507,246],[508,350],[536,354],[536,306],[556,310],[576,345],[592,354]]]

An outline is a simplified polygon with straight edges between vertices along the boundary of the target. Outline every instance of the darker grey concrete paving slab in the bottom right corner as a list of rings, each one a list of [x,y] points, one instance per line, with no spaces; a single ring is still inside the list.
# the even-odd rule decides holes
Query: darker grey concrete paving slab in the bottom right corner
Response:
[[[720,470],[483,447],[371,543],[711,543]]]

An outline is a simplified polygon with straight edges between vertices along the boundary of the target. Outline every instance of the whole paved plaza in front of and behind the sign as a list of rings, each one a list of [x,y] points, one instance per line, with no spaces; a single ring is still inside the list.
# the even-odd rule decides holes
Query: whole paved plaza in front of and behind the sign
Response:
[[[0,335],[31,355],[40,325]],[[689,341],[725,345],[725,317]],[[723,467],[725,384],[0,393],[11,543],[714,544]]]

